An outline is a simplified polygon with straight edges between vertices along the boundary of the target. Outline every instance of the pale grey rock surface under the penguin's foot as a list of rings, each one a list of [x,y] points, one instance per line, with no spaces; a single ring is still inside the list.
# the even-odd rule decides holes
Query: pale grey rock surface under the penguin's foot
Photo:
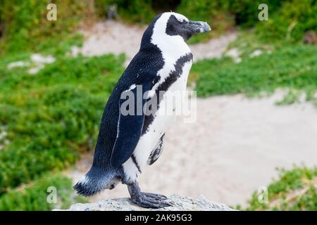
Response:
[[[158,209],[159,211],[232,211],[226,205],[220,203],[212,203],[207,200],[203,195],[197,198],[181,197],[180,195],[170,195],[168,197],[172,207],[165,207]],[[68,211],[142,211],[154,210],[139,207],[130,202],[129,198],[113,198],[101,200],[98,203],[77,203],[70,206]]]

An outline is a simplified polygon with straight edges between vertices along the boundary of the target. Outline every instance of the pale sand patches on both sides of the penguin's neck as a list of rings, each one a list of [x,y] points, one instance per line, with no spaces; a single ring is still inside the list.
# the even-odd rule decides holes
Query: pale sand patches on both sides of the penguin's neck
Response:
[[[133,56],[139,51],[142,34],[146,28],[127,26],[115,21],[97,23],[91,30],[82,31],[87,39],[82,49],[74,49],[73,54],[82,53],[85,56],[101,56],[106,53],[125,53],[128,56],[125,65],[128,65]],[[228,44],[236,37],[237,32],[230,32],[204,44],[191,45],[190,49],[194,61],[222,56]]]

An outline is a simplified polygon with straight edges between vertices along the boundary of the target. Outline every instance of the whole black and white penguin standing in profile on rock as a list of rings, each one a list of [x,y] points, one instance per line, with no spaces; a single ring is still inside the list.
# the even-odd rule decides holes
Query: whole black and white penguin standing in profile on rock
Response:
[[[114,188],[121,181],[128,185],[131,199],[138,205],[170,205],[163,195],[141,192],[137,178],[145,165],[153,164],[161,155],[163,136],[174,120],[173,115],[160,112],[160,105],[166,103],[169,91],[186,89],[192,53],[185,41],[209,30],[206,23],[190,21],[178,13],[162,13],[154,18],[143,34],[139,52],[106,103],[94,162],[85,177],[75,184],[77,193],[94,195]],[[137,96],[139,85],[142,85],[142,94],[147,91],[149,95],[147,99],[136,98],[135,101],[142,101],[146,106],[158,98],[157,110],[150,115],[122,115],[120,107],[125,99],[120,99],[121,94],[132,91]],[[163,91],[163,98],[158,97],[159,91]]]

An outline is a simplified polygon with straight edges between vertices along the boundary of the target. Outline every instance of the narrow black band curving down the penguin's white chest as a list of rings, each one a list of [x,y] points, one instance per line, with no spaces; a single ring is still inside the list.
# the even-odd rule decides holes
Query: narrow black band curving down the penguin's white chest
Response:
[[[180,57],[175,63],[175,70],[170,71],[168,77],[166,77],[166,79],[156,89],[155,95],[152,97],[157,98],[158,105],[156,110],[159,110],[159,104],[162,100],[164,92],[170,88],[170,86],[180,77],[180,75],[182,75],[182,68],[184,67],[185,63],[190,61],[192,61],[192,53],[187,53],[185,56]],[[150,101],[150,99],[148,101]],[[144,117],[142,135],[147,133],[149,126],[154,121],[154,114],[155,112]]]

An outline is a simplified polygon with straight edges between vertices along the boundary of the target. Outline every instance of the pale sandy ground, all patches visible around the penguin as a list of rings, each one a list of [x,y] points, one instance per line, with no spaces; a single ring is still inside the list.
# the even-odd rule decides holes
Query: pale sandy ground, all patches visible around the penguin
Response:
[[[124,51],[131,58],[144,28],[111,22],[93,30],[78,51],[89,56]],[[191,46],[194,57],[219,57],[235,37],[230,33]],[[309,103],[276,106],[280,98],[276,93],[261,99],[241,95],[198,99],[197,121],[185,124],[178,118],[166,134],[161,158],[142,173],[142,189],[189,197],[203,194],[215,202],[244,205],[253,191],[276,176],[275,167],[316,165],[316,108]],[[92,155],[85,155],[68,176],[79,180],[91,162]],[[128,191],[119,184],[92,201],[125,196]]]

